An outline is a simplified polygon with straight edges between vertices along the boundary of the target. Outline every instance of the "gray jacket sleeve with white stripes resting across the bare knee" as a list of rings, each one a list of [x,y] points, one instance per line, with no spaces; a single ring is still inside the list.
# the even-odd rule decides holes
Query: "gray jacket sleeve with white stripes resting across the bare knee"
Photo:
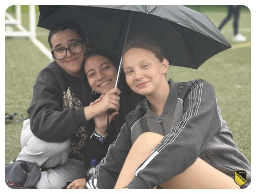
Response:
[[[188,82],[191,92],[184,101],[183,118],[134,172],[129,189],[151,189],[185,171],[201,148],[221,129],[214,89],[203,80]]]

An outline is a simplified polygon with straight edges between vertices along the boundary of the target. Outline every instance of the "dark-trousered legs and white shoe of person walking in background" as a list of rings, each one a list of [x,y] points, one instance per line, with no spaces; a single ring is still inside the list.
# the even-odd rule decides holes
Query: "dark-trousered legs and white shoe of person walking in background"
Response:
[[[240,10],[241,5],[227,5],[227,15],[222,20],[222,22],[219,25],[219,29],[222,30],[222,28],[225,26],[225,24],[231,19],[232,15],[234,15],[233,20],[233,42],[244,42],[246,41],[246,37],[239,33],[238,25],[239,25],[239,17],[240,17]]]

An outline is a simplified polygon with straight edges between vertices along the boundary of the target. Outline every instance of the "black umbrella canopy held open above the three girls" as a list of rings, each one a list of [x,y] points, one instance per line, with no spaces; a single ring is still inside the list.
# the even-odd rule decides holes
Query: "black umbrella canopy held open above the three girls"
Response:
[[[207,16],[182,5],[39,5],[39,11],[38,27],[72,20],[93,46],[120,56],[128,27],[128,37],[146,34],[159,42],[176,66],[197,69],[231,47]]]

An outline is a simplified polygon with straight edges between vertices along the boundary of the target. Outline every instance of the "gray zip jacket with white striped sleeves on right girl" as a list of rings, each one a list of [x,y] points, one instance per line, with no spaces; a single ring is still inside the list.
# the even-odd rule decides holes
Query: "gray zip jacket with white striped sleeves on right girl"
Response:
[[[162,114],[155,115],[145,99],[126,115],[118,138],[85,188],[113,189],[132,143],[144,132],[164,137],[136,169],[129,189],[154,188],[186,170],[198,157],[232,178],[235,170],[246,170],[244,187],[250,184],[251,165],[233,141],[212,85],[204,80],[169,83]]]

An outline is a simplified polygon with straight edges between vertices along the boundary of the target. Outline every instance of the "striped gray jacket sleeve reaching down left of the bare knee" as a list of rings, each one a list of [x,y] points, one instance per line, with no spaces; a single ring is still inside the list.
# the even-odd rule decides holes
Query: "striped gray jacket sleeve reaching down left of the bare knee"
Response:
[[[96,166],[96,171],[85,188],[113,189],[130,148],[130,131],[125,123],[116,141],[109,145],[106,157]]]

